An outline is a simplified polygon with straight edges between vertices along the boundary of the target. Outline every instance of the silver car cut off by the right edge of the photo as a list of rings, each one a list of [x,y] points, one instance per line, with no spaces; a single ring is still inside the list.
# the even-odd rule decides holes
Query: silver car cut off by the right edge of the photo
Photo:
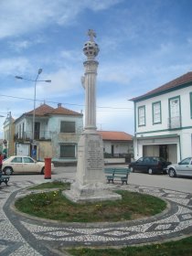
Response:
[[[192,157],[187,157],[178,164],[168,165],[166,172],[171,177],[192,176]]]

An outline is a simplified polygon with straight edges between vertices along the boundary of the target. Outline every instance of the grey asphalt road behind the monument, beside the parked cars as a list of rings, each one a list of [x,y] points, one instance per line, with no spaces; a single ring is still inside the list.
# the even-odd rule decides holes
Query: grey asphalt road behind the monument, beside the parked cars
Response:
[[[51,175],[53,179],[75,179],[76,166],[56,167]],[[48,181],[42,175],[13,175],[10,181],[36,180],[39,183]],[[143,173],[131,173],[128,184],[160,187],[181,192],[192,193],[191,177],[169,177],[168,175],[148,175]]]

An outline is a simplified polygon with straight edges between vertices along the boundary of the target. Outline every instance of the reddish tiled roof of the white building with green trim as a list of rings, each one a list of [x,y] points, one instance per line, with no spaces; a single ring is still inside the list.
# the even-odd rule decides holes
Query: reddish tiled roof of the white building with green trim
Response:
[[[130,101],[137,101],[137,100],[143,99],[147,96],[153,96],[155,93],[167,91],[172,88],[176,88],[176,87],[178,87],[180,85],[184,85],[190,81],[192,81],[192,72],[188,72],[187,74],[184,74],[183,76],[177,78],[176,80],[171,80],[171,81],[165,83],[164,85],[156,88],[155,90],[148,91],[147,93],[145,93],[141,96],[135,97],[135,98],[131,99]]]

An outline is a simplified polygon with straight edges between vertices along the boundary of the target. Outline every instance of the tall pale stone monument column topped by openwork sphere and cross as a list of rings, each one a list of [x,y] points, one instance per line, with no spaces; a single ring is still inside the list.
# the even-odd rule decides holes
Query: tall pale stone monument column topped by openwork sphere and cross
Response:
[[[113,193],[106,184],[103,173],[103,145],[96,127],[96,76],[99,62],[95,60],[100,48],[95,43],[94,31],[89,29],[90,40],[84,44],[84,76],[81,78],[85,90],[85,126],[78,144],[76,181],[64,195],[74,202],[116,200],[122,197]]]

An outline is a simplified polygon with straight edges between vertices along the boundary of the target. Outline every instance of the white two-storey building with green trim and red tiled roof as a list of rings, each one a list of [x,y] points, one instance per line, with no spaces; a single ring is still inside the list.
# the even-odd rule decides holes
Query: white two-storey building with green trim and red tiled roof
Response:
[[[192,155],[192,72],[130,101],[135,159],[154,155],[176,163]]]

